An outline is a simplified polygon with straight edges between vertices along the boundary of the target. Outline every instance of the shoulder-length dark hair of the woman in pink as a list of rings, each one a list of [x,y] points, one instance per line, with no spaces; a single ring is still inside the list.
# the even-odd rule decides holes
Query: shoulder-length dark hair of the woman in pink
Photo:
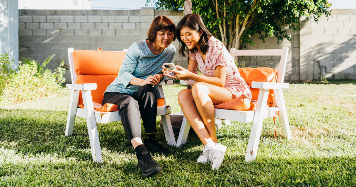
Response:
[[[176,33],[177,33],[177,38],[179,41],[179,54],[183,57],[185,57],[185,53],[188,54],[189,49],[188,46],[185,44],[182,39],[180,39],[180,29],[183,27],[188,27],[192,30],[195,30],[199,32],[200,30],[203,31],[200,40],[199,40],[199,46],[200,46],[200,51],[203,54],[206,54],[206,51],[208,50],[208,40],[211,36],[213,36],[209,30],[205,27],[203,23],[203,19],[198,14],[188,14],[185,15],[178,23]],[[198,52],[198,48],[194,47],[193,49],[190,50],[192,53]]]

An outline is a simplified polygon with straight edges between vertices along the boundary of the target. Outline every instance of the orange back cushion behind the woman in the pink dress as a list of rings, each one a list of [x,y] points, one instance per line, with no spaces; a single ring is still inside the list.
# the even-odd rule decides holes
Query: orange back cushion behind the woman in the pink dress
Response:
[[[273,68],[237,68],[242,78],[246,81],[247,85],[252,85],[252,82],[276,82],[277,70]],[[258,99],[260,89],[251,88],[252,100]],[[273,89],[269,90],[267,103],[269,107],[273,106],[274,92]]]

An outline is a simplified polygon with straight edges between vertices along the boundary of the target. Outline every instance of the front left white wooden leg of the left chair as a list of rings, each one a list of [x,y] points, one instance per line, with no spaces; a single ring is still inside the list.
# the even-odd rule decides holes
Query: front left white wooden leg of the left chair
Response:
[[[103,162],[103,157],[101,156],[101,148],[99,141],[98,129],[96,128],[96,121],[94,115],[93,100],[91,99],[90,90],[82,90],[84,109],[88,114],[87,127],[90,141],[91,156],[95,162]]]

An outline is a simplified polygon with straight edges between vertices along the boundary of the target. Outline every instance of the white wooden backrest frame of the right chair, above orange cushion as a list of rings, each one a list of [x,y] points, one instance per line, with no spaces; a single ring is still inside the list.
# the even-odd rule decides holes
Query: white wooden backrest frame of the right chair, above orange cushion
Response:
[[[283,47],[281,50],[236,50],[231,48],[230,54],[232,57],[235,56],[281,56],[281,61],[279,62],[279,69],[277,71],[278,77],[277,82],[283,83],[284,75],[286,74],[286,65],[288,57],[288,47]]]

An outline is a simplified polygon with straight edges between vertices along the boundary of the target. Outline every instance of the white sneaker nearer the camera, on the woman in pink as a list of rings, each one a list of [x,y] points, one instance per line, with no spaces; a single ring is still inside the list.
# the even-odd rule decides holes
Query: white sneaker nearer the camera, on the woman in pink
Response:
[[[208,149],[208,158],[211,162],[213,170],[219,170],[223,163],[227,147],[221,144],[216,144]]]

